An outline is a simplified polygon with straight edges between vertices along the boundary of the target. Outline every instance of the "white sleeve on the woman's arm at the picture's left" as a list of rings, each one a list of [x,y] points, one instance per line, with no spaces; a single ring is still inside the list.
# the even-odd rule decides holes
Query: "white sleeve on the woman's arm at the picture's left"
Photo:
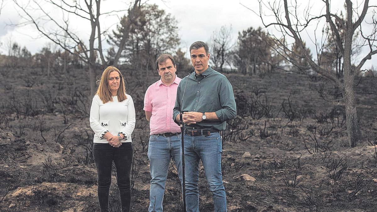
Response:
[[[100,123],[100,101],[102,100],[97,95],[93,97],[89,115],[90,128],[92,128],[98,138],[102,138],[102,136],[108,132]]]

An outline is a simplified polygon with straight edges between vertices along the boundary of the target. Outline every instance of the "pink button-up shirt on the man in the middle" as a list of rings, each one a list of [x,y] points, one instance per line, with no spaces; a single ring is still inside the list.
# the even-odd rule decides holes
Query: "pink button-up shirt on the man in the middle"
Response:
[[[169,86],[158,80],[151,84],[144,96],[144,111],[152,112],[149,127],[150,135],[166,132],[181,132],[181,128],[173,121],[173,108],[177,97],[178,84],[181,81],[177,75]]]

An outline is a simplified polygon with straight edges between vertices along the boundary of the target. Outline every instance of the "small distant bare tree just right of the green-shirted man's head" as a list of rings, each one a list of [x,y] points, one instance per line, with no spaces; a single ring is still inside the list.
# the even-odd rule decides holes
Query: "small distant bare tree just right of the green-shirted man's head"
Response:
[[[213,61],[216,68],[219,71],[223,71],[222,68],[224,63],[229,63],[229,55],[231,49],[233,48],[232,45],[232,26],[229,28],[227,26],[221,26],[219,31],[214,31],[211,36],[210,41],[210,53],[211,53],[211,60]]]

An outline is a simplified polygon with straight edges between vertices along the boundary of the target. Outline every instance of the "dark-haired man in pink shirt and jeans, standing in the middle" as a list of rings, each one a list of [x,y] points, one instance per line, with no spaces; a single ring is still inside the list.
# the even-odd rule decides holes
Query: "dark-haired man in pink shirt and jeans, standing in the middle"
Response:
[[[182,184],[181,128],[172,118],[181,78],[175,74],[177,69],[172,55],[159,56],[156,67],[161,79],[151,84],[144,96],[145,117],[150,127],[148,158],[152,177],[148,211],[153,212],[162,211],[170,158],[175,162]]]

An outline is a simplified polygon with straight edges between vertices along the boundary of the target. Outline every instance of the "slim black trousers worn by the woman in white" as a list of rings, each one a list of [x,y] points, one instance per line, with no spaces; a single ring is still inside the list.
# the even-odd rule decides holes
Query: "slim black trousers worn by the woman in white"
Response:
[[[116,180],[119,188],[122,212],[130,211],[132,154],[131,142],[122,143],[118,148],[112,147],[108,143],[93,144],[93,157],[98,174],[98,200],[101,211],[109,211],[109,190],[113,161],[116,167]]]

